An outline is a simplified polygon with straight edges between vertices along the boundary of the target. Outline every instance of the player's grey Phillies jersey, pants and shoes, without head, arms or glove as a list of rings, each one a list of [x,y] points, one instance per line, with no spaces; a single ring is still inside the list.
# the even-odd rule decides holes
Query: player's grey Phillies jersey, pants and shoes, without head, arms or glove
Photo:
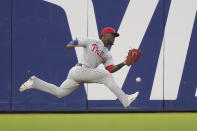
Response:
[[[20,91],[26,89],[37,89],[50,93],[58,98],[62,98],[71,94],[74,90],[80,87],[83,83],[99,83],[107,86],[120,100],[125,108],[127,108],[138,96],[127,95],[118,86],[113,76],[105,69],[96,68],[99,64],[104,64],[105,67],[113,64],[112,55],[109,50],[104,47],[101,40],[84,39],[78,41],[78,46],[83,47],[83,60],[81,64],[86,66],[74,66],[70,69],[67,79],[57,87],[35,76],[32,76],[27,82],[22,84]]]

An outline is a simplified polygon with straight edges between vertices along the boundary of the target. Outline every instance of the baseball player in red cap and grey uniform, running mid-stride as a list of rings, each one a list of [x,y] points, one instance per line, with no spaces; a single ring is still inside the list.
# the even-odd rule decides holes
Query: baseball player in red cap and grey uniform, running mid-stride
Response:
[[[37,89],[62,98],[71,94],[84,83],[99,83],[108,87],[123,106],[128,108],[138,97],[139,92],[130,95],[125,94],[116,81],[114,81],[111,73],[118,71],[125,65],[130,66],[137,62],[141,56],[141,50],[129,50],[126,60],[118,65],[114,65],[112,55],[107,47],[113,45],[115,37],[118,36],[119,34],[113,28],[106,27],[101,32],[100,40],[89,38],[72,40],[67,44],[66,48],[71,50],[75,47],[82,47],[83,59],[70,69],[67,79],[60,87],[32,76],[21,85],[19,91]],[[97,68],[100,64],[103,64],[106,70]]]

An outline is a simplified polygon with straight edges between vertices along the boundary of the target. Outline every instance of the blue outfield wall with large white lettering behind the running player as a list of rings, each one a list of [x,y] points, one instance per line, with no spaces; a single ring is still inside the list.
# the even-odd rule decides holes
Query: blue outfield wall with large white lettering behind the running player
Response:
[[[170,57],[165,54],[166,48],[164,47],[166,43],[171,42],[171,39],[165,39],[165,36],[169,29],[173,28],[169,26],[171,25],[170,20],[173,18],[170,17],[171,14],[169,12],[170,10],[175,10],[176,6],[174,5],[177,4],[173,3],[172,5],[171,0],[158,0],[157,3],[153,2],[154,0],[149,2],[144,0],[141,3],[135,0],[84,1],[87,3],[87,7],[85,7],[87,8],[87,15],[82,21],[87,20],[87,31],[95,28],[90,24],[92,22],[92,16],[90,15],[92,13],[90,12],[91,5],[93,6],[98,34],[106,26],[112,26],[115,30],[122,32],[133,30],[138,33],[139,30],[142,30],[139,33],[140,35],[142,34],[142,37],[139,38],[136,37],[130,40],[129,38],[132,38],[131,34],[126,34],[128,44],[132,42],[138,43],[139,48],[143,52],[140,61],[129,69],[122,86],[122,89],[128,94],[137,90],[140,92],[138,99],[128,109],[124,109],[118,100],[102,98],[102,95],[106,95],[104,94],[106,92],[100,94],[101,98],[91,98],[94,94],[98,95],[98,92],[88,92],[88,87],[85,90],[84,86],[61,99],[38,90],[28,90],[20,93],[18,91],[20,85],[32,75],[59,86],[66,79],[69,69],[77,63],[75,50],[69,51],[65,48],[66,43],[72,39],[71,32],[73,30],[69,23],[72,15],[65,8],[66,4],[73,6],[76,1],[65,0],[62,3],[57,1],[0,1],[0,111],[197,110],[197,80],[195,77],[197,74],[197,62],[195,61],[197,56],[195,51],[197,48],[196,14],[193,20],[194,25],[192,26],[191,38],[188,42],[183,71],[180,73],[181,80],[178,87],[178,95],[171,98],[169,91],[165,91],[166,85],[169,85],[165,84],[165,78],[171,75],[165,73],[166,68],[169,67],[166,66],[165,60],[168,61]],[[153,6],[153,4],[155,5]],[[147,8],[145,8],[146,5]],[[84,8],[82,5],[76,6],[77,8]],[[136,11],[130,12],[131,14],[134,13],[135,17],[133,15],[125,16],[128,9]],[[147,27],[140,27],[137,25],[137,20],[139,17],[139,20],[143,19],[140,14],[141,12],[143,14],[144,10],[146,12],[153,11],[153,13],[148,17],[145,16],[148,13],[144,12],[144,18],[147,18],[148,24]],[[73,11],[75,10],[73,9]],[[169,17],[170,20],[168,21]],[[131,21],[137,19],[136,22],[130,22],[133,25],[129,27],[136,26],[138,28],[123,30],[122,24],[124,24],[125,19],[131,19]],[[80,21],[75,23],[79,30],[81,29],[78,26]],[[166,26],[167,23],[168,26]],[[145,29],[144,31],[143,28]],[[87,32],[84,36],[89,37],[89,33]],[[177,39],[181,38],[177,37]],[[172,48],[174,47],[172,46]],[[182,48],[182,45],[174,48],[175,53],[178,48]],[[161,63],[159,63],[159,60]],[[141,83],[136,83],[135,81],[138,76],[142,78]],[[170,88],[174,92],[174,87]]]

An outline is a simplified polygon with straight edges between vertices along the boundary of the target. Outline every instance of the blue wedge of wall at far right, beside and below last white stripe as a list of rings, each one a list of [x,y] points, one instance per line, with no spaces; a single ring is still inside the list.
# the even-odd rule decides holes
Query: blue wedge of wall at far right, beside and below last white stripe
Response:
[[[167,100],[164,103],[165,110],[197,110],[197,13],[194,21],[194,27],[189,42],[188,53],[185,60],[183,74],[180,83],[177,100]]]

